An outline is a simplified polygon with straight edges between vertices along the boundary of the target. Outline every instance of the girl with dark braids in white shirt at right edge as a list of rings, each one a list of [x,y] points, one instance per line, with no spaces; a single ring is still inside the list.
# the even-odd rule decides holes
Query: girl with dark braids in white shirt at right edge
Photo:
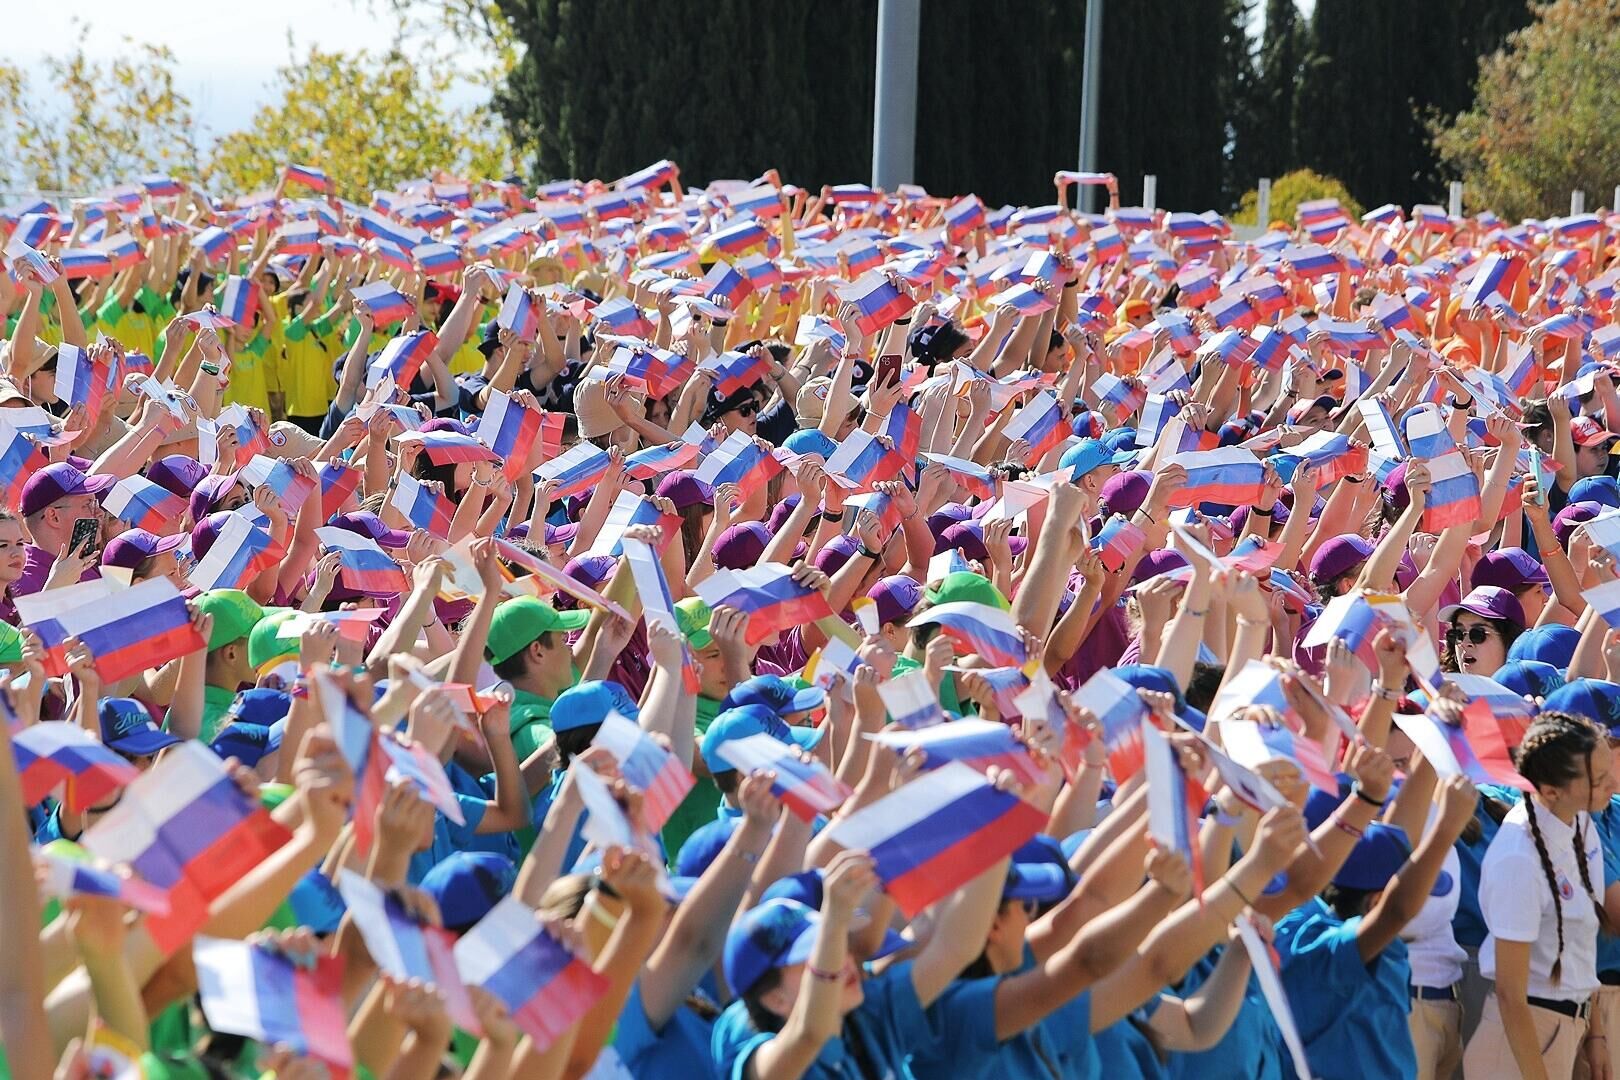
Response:
[[[1614,751],[1591,721],[1549,711],[1524,732],[1513,764],[1531,790],[1502,819],[1479,871],[1489,929],[1479,967],[1495,996],[1463,1070],[1567,1080],[1584,1059],[1589,1075],[1607,1078],[1607,1036],[1591,1012],[1597,929],[1607,923],[1594,891],[1604,857],[1591,814],[1614,793]]]

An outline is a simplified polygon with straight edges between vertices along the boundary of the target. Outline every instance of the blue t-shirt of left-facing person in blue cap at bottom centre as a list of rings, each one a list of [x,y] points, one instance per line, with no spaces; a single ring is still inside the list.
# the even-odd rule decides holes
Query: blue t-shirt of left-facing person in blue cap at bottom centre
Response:
[[[862,1080],[863,1077],[904,1077],[906,1057],[927,1046],[935,1033],[917,1001],[910,962],[868,978],[865,999],[844,1017],[844,1028],[821,1048],[802,1080]],[[714,1022],[710,1049],[716,1072],[729,1080],[748,1075],[748,1057],[774,1038],[760,1031],[748,1009],[734,1001]]]

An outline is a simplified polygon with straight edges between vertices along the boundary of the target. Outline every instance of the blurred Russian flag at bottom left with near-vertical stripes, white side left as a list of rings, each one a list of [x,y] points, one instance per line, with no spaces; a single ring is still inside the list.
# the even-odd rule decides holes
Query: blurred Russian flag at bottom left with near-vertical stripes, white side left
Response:
[[[191,959],[211,1028],[264,1046],[287,1046],[348,1075],[355,1051],[348,1044],[342,957],[318,954],[305,963],[267,946],[198,938]]]

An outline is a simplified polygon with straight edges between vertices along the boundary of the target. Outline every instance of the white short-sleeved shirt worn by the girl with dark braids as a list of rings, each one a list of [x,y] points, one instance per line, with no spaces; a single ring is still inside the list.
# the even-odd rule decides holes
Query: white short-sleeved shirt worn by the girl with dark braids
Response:
[[[1486,861],[1479,871],[1479,910],[1486,916],[1486,944],[1479,949],[1479,972],[1486,978],[1497,975],[1497,938],[1503,941],[1528,941],[1529,984],[1533,997],[1558,1001],[1584,1001],[1597,989],[1597,908],[1581,886],[1581,870],[1576,863],[1576,831],[1586,839],[1586,866],[1592,889],[1604,887],[1604,848],[1597,840],[1597,826],[1589,814],[1576,814],[1575,826],[1567,826],[1544,808],[1536,808],[1536,824],[1547,842],[1547,858],[1552,861],[1558,897],[1563,902],[1563,967],[1558,983],[1552,981],[1552,963],[1558,959],[1558,920],[1554,908],[1547,871],[1536,852],[1536,837],[1529,831],[1529,800],[1520,803],[1502,819],[1502,829],[1490,840]]]

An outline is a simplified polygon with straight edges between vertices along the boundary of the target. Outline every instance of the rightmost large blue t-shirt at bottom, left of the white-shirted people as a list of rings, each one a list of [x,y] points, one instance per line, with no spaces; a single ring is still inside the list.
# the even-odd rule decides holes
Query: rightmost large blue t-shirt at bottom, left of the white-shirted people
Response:
[[[1362,963],[1356,949],[1359,928],[1359,915],[1340,920],[1320,897],[1277,925],[1283,989],[1306,1057],[1320,1080],[1414,1077],[1406,942],[1396,938],[1371,963]],[[1294,1075],[1291,1061],[1283,1062],[1283,1075]]]

